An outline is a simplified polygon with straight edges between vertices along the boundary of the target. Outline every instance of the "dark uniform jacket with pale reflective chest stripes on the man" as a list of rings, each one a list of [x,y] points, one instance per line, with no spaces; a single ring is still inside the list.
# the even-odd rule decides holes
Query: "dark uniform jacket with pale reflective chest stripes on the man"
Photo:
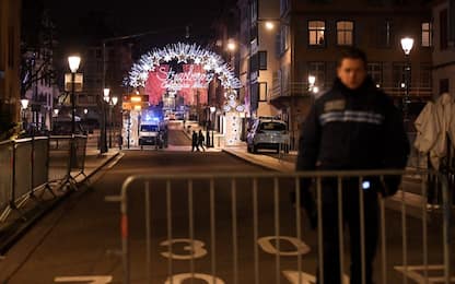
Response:
[[[304,121],[296,169],[402,169],[408,154],[402,118],[392,99],[370,78],[357,90],[337,79]],[[385,193],[393,194],[399,179],[386,184]]]

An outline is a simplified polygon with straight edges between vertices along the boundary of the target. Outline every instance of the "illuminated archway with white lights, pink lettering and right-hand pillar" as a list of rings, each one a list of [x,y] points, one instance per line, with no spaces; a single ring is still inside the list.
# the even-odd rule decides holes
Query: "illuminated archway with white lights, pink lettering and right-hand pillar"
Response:
[[[185,75],[176,75],[175,72],[163,68],[163,66],[171,62],[198,66],[201,72],[196,71],[194,73],[191,69],[191,79],[196,81],[195,85],[185,85],[182,82],[187,79]],[[220,55],[203,49],[196,44],[184,43],[168,45],[162,49],[152,49],[142,55],[138,62],[132,66],[126,83],[132,87],[145,87],[149,76],[154,72],[166,74],[162,79],[165,88],[170,92],[177,92],[184,86],[207,88],[212,79],[217,76],[225,90],[226,100],[222,108],[226,123],[225,143],[234,145],[240,142],[240,117],[241,114],[244,114],[245,107],[238,104],[235,90],[241,88],[242,83],[235,76],[233,68]]]

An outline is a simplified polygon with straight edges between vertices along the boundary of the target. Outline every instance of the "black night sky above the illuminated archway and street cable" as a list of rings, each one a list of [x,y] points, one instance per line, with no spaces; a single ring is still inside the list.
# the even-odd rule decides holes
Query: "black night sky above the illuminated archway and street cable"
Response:
[[[43,3],[50,10],[63,43],[156,31],[156,35],[142,40],[163,44],[184,39],[186,25],[190,25],[190,39],[208,38],[212,34],[211,23],[225,1],[43,0]]]

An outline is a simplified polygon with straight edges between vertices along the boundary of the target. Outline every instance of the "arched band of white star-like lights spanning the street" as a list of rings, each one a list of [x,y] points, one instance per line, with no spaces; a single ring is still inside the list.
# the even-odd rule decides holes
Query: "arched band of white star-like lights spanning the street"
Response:
[[[153,49],[143,55],[137,63],[135,63],[129,72],[126,84],[132,87],[144,86],[149,78],[149,72],[155,70],[161,62],[188,62],[192,60],[196,64],[202,64],[208,72],[217,73],[224,88],[240,88],[241,81],[235,76],[233,68],[230,67],[220,55],[203,49],[192,44],[173,44],[163,49]]]

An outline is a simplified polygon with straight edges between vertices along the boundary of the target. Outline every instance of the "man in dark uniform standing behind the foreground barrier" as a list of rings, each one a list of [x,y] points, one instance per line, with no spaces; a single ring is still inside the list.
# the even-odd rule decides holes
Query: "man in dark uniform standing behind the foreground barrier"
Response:
[[[296,170],[404,169],[409,155],[409,142],[400,111],[389,96],[378,90],[366,74],[366,56],[354,47],[341,54],[337,79],[327,93],[314,103],[306,117],[299,143]],[[318,283],[342,283],[340,273],[338,194],[341,194],[343,225],[349,227],[350,283],[372,284],[373,261],[378,239],[378,196],[394,194],[400,176],[343,178],[341,191],[337,178],[323,178],[322,212],[316,212],[310,178],[301,181],[301,204],[306,209],[313,227],[322,226],[323,268]],[[314,187],[313,187],[314,188]],[[364,271],[362,272],[362,239],[360,193],[363,192]],[[316,224],[317,214],[322,224]],[[365,282],[362,282],[364,276]]]

